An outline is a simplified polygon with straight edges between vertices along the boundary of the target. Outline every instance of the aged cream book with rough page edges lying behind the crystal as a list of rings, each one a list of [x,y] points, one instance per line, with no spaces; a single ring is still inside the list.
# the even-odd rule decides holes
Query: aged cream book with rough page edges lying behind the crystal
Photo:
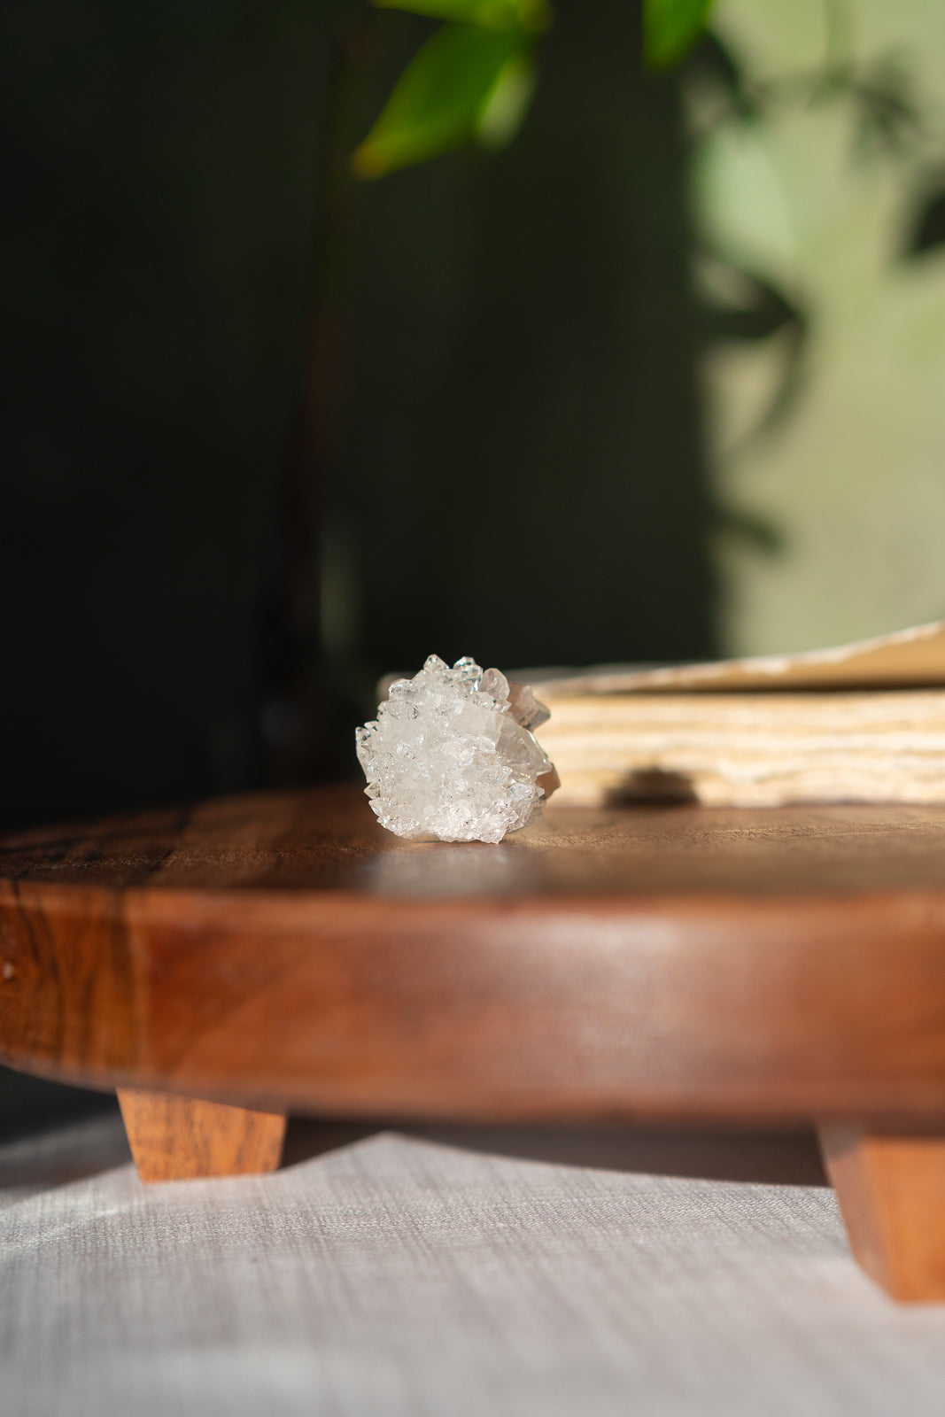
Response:
[[[945,802],[945,621],[837,649],[533,680],[554,805]]]

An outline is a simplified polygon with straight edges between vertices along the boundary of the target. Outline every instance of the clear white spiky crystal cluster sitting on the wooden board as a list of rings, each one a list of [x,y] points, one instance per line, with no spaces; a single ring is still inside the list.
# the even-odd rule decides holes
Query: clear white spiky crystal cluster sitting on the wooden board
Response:
[[[472,659],[431,655],[357,730],[366,792],[383,826],[441,842],[500,842],[533,820],[557,777],[530,728],[531,690]]]

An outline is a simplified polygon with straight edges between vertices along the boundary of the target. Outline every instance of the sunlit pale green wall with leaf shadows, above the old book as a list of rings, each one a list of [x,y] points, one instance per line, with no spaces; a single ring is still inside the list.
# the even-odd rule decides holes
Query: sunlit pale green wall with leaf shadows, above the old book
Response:
[[[945,174],[945,7],[720,0],[715,28],[766,96],[759,116],[717,122],[711,91],[691,94],[693,125],[708,129],[693,162],[700,231],[786,293],[803,324],[713,346],[703,364],[717,496],[781,540],[765,551],[718,538],[725,648],[802,649],[935,619],[945,247],[934,220],[927,249],[912,248]],[[817,71],[833,89],[806,82]],[[755,436],[786,374],[783,417]]]

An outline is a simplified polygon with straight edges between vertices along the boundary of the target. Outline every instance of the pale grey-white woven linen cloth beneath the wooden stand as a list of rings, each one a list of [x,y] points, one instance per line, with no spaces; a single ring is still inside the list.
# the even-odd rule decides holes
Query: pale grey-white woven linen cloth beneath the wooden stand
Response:
[[[945,1306],[805,1138],[310,1127],[142,1186],[109,1114],[0,1148],[0,1207],[4,1417],[945,1410]]]

